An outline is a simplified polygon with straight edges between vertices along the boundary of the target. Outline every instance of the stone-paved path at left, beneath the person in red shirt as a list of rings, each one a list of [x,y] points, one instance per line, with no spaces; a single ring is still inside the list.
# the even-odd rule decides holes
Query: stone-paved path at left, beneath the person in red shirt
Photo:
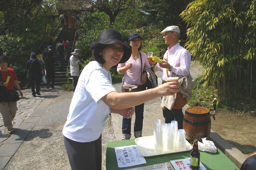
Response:
[[[18,110],[13,120],[12,135],[6,133],[7,128],[4,127],[3,117],[0,115],[0,170],[9,162],[59,91],[58,86],[48,90],[42,87],[41,96],[32,97],[30,89],[22,90],[24,96],[17,101]]]

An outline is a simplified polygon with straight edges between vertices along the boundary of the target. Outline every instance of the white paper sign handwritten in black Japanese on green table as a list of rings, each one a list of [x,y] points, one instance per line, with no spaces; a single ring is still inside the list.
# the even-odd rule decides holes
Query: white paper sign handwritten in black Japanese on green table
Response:
[[[137,145],[116,147],[115,152],[118,167],[147,164],[145,158],[140,155]]]

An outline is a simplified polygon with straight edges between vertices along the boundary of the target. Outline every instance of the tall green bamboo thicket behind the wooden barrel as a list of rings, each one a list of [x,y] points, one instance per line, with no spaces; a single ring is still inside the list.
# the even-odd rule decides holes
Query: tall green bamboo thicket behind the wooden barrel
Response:
[[[195,0],[180,16],[188,28],[185,46],[203,66],[203,86],[216,84],[224,97],[255,95],[256,0]]]

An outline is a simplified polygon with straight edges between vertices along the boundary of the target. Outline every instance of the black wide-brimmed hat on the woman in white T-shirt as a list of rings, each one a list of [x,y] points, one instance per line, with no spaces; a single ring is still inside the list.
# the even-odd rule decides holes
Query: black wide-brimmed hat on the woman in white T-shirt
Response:
[[[123,46],[123,57],[119,63],[124,63],[131,57],[131,48],[122,42],[122,35],[116,30],[103,30],[101,31],[98,42],[91,43],[91,49],[97,47],[104,47],[109,44],[118,44]]]

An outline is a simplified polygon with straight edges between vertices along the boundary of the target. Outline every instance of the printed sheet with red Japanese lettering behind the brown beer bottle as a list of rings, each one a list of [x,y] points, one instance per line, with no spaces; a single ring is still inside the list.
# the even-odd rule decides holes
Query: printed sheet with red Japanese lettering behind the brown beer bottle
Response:
[[[170,162],[173,165],[175,170],[192,170],[192,168],[190,168],[190,158],[180,159],[180,160],[173,160],[173,161],[170,161]],[[199,167],[198,170],[207,170],[207,169],[200,162],[200,167]]]

